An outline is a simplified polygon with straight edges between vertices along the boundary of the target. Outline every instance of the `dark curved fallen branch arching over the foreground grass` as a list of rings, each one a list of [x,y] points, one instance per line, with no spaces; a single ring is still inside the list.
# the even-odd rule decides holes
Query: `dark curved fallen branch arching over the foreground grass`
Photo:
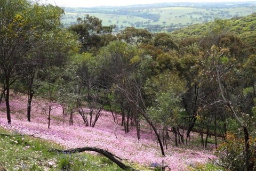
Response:
[[[115,154],[113,154],[113,153],[111,153],[107,150],[103,150],[103,149],[99,149],[99,148],[83,147],[83,148],[69,149],[69,150],[49,149],[48,151],[54,151],[54,152],[57,152],[57,153],[64,153],[64,154],[84,152],[84,151],[95,151],[95,152],[98,152],[98,153],[102,154],[103,156],[107,157],[111,161],[113,161],[115,164],[117,164],[117,166],[119,166],[123,170],[139,171],[139,170],[136,170],[136,169],[134,169],[130,166],[126,166],[125,164],[123,164],[123,162],[119,161],[119,160],[122,160],[122,159],[117,157]]]

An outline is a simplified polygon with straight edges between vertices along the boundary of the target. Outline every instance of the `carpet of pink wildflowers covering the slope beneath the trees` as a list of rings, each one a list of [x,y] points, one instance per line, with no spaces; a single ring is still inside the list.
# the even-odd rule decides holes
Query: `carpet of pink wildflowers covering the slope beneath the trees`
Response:
[[[27,121],[27,98],[22,95],[12,95],[12,123],[7,124],[5,103],[0,104],[0,128],[23,135],[34,135],[44,140],[59,143],[64,149],[95,147],[115,154],[130,164],[149,167],[152,164],[168,165],[172,171],[187,170],[197,164],[205,164],[214,156],[214,147],[202,148],[197,133],[191,136],[188,145],[173,145],[174,137],[170,134],[169,146],[165,148],[166,157],[162,157],[156,136],[148,129],[147,124],[141,123],[140,140],[137,139],[135,127],[125,133],[121,126],[121,116],[115,115],[114,123],[111,112],[104,111],[95,127],[86,127],[82,117],[75,113],[74,124],[69,124],[69,116],[62,114],[62,108],[51,111],[50,129],[48,128],[47,103],[35,99],[31,110],[31,122]]]

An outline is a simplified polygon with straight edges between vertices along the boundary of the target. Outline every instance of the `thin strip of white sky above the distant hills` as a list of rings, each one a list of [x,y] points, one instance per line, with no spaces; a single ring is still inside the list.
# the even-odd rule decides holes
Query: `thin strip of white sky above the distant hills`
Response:
[[[246,2],[252,0],[43,0],[60,7],[125,6],[134,4],[174,3],[174,2]],[[252,1],[255,2],[256,0]]]

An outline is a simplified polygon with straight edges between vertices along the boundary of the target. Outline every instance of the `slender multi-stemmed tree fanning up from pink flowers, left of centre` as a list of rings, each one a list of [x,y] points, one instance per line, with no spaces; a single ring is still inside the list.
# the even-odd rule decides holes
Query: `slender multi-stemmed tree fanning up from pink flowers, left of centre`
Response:
[[[86,126],[94,127],[107,105],[108,89],[101,82],[99,59],[91,53],[75,55],[77,61],[76,107]]]

